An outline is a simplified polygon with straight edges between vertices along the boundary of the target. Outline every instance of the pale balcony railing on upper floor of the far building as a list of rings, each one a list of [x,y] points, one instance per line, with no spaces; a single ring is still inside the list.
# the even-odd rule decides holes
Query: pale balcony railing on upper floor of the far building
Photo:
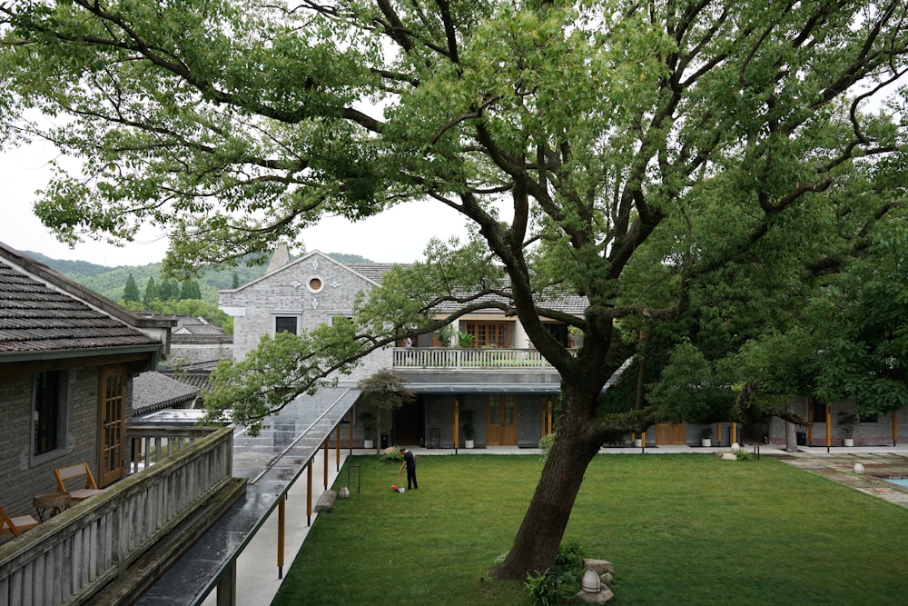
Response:
[[[551,368],[535,349],[461,349],[456,347],[396,347],[395,368],[504,369]]]

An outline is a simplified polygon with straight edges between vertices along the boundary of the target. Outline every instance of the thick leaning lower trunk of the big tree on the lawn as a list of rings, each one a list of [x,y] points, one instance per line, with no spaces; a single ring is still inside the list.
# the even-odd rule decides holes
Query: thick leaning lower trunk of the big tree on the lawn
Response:
[[[598,448],[583,423],[559,428],[514,545],[493,571],[495,577],[525,579],[528,572],[546,571],[555,563],[584,473]]]

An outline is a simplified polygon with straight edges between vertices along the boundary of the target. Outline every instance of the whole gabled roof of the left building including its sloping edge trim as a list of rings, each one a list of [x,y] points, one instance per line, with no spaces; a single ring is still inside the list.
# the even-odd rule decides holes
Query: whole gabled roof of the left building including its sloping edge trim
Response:
[[[161,342],[135,324],[89,304],[104,298],[86,290],[0,243],[0,355],[24,359],[29,354],[54,357],[160,348]],[[106,299],[104,303],[117,307]],[[120,310],[129,317],[128,311]]]

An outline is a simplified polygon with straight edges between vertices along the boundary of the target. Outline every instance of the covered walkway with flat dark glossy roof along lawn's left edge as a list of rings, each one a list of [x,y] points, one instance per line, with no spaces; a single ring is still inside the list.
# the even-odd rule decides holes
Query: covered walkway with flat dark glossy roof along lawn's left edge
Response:
[[[280,585],[276,524],[270,524],[262,533],[260,539],[271,543],[270,555],[255,553],[254,568],[248,569],[253,572],[251,576],[247,576],[242,563],[239,567],[235,564],[265,522],[278,517],[285,497],[291,498],[294,505],[287,525],[297,535],[301,525],[308,528],[314,519],[315,502],[324,488],[331,485],[341,468],[342,456],[349,452],[337,448],[326,452],[324,445],[331,433],[338,435],[337,428],[349,427],[345,421],[358,396],[359,392],[351,388],[322,388],[314,396],[301,396],[291,403],[280,416],[269,420],[270,427],[256,437],[238,429],[233,437],[232,475],[248,480],[245,496],[202,534],[136,603],[149,606],[270,603],[271,597],[262,601],[264,594],[256,580],[260,577],[262,581],[274,580],[271,582],[274,591]],[[347,438],[341,432],[340,443],[346,444]],[[306,491],[310,478],[311,502]],[[311,516],[300,515],[310,511]],[[284,568],[290,566],[298,549],[299,544],[292,554],[291,550],[284,550]]]

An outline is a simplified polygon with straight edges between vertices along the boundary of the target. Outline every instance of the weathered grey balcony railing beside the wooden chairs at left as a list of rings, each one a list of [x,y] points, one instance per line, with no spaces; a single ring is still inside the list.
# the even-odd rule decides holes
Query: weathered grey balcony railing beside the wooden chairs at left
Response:
[[[207,437],[198,439],[202,433]],[[231,482],[231,428],[136,428],[128,434],[160,445],[133,448],[144,452],[147,468],[0,547],[0,603],[90,602]],[[170,455],[164,456],[167,445]]]

